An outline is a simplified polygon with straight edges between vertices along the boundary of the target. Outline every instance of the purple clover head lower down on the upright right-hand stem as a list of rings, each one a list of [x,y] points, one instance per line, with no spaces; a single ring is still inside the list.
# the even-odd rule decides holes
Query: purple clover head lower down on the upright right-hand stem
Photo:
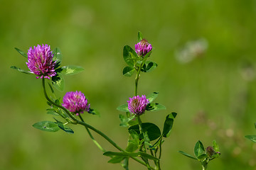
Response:
[[[134,96],[132,98],[129,98],[128,102],[128,109],[131,113],[134,113],[135,115],[142,115],[146,110],[146,105],[149,103],[149,100],[146,99],[145,95],[140,96]]]

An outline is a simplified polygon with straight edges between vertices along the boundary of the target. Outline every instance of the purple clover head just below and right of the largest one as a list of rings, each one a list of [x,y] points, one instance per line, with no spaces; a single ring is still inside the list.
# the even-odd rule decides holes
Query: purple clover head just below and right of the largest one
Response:
[[[87,102],[85,94],[82,94],[81,91],[67,92],[63,97],[62,106],[76,115],[90,109],[90,104]]]

